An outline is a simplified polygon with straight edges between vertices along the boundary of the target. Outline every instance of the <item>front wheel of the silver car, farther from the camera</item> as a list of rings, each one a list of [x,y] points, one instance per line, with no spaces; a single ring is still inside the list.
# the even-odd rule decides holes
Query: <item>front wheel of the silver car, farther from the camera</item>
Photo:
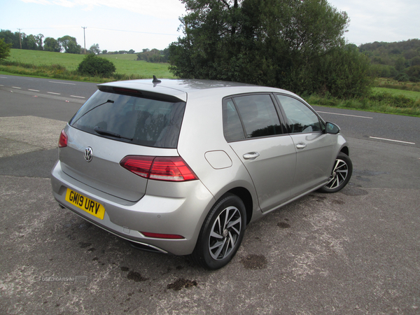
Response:
[[[338,153],[334,167],[332,167],[330,181],[320,188],[319,191],[321,193],[337,193],[349,183],[352,172],[353,164],[350,158],[342,152]]]

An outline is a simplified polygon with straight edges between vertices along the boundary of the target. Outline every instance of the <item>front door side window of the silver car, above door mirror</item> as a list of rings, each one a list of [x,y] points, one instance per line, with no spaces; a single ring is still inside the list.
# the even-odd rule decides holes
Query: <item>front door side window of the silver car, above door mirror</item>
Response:
[[[286,95],[276,94],[276,97],[286,113],[290,133],[322,131],[318,116],[308,106]]]

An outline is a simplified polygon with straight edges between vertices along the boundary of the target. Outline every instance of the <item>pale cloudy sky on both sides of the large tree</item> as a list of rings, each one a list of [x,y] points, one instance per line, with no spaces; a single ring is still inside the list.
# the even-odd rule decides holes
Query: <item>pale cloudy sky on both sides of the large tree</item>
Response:
[[[349,43],[420,38],[419,0],[328,0],[350,18]],[[44,37],[75,37],[86,48],[159,50],[182,36],[179,0],[0,0],[0,29]],[[83,27],[86,27],[83,29]]]

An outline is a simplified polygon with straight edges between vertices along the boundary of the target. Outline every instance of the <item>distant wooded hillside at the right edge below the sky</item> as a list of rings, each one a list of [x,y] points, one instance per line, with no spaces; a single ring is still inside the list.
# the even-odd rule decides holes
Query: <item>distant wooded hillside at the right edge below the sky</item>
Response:
[[[420,40],[409,39],[394,43],[377,42],[359,46],[370,57],[374,74],[400,81],[420,81]]]

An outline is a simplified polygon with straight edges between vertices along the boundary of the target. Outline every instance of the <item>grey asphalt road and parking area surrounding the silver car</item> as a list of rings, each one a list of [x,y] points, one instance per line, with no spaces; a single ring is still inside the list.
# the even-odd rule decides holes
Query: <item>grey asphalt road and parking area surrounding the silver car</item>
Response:
[[[249,225],[232,262],[208,272],[137,251],[53,200],[58,135],[83,103],[71,95],[94,85],[5,80],[0,314],[420,314],[419,118],[316,108],[348,136],[349,185]]]

